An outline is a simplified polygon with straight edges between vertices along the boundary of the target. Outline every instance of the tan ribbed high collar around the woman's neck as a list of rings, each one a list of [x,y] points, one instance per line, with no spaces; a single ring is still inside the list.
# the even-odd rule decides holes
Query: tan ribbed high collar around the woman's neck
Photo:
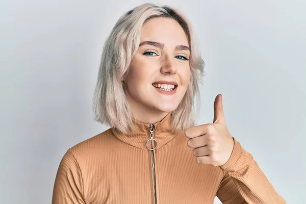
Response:
[[[161,148],[168,142],[170,142],[176,135],[176,133],[171,132],[171,113],[168,113],[161,121],[153,123],[154,124],[154,139],[157,141],[158,145],[156,149]],[[115,128],[112,128],[112,132],[116,138],[124,143],[130,144],[134,147],[140,149],[148,150],[146,147],[147,140],[150,139],[150,130],[148,123],[138,122],[133,119],[132,131],[124,134]],[[150,143],[149,143],[150,144]],[[148,145],[150,147],[150,145]]]

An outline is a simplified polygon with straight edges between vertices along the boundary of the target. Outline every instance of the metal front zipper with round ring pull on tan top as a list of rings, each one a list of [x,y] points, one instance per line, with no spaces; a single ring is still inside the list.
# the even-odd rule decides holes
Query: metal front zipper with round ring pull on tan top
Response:
[[[146,142],[146,147],[148,150],[151,151],[151,167],[152,167],[152,175],[153,175],[153,191],[154,191],[154,204],[157,204],[157,196],[156,196],[156,172],[155,172],[155,160],[154,160],[154,150],[157,147],[157,141],[154,139],[154,124],[149,124],[149,131],[150,131],[150,139]],[[151,147],[148,147],[148,143],[151,143]],[[154,147],[153,144],[154,143]]]

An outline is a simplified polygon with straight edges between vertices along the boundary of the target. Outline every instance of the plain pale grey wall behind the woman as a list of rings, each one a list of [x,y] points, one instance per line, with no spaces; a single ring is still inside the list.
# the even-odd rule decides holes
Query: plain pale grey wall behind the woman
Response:
[[[101,49],[141,3],[0,2],[1,203],[50,203],[66,150],[108,129],[92,112]],[[195,29],[206,62],[197,124],[213,122],[221,93],[231,134],[288,203],[306,203],[306,3],[156,3]]]

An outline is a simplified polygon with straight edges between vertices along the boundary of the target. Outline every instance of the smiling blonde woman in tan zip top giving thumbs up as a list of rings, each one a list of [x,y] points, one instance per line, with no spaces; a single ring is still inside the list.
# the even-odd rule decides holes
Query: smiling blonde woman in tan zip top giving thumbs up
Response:
[[[286,203],[228,132],[222,96],[214,120],[194,125],[203,73],[190,23],[143,4],[106,40],[96,120],[107,131],[68,149],[55,180],[60,203]],[[198,101],[198,100],[196,100]]]

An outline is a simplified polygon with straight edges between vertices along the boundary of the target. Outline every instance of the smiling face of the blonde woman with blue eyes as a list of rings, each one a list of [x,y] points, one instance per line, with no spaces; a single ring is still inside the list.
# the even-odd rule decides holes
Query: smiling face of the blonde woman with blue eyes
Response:
[[[181,25],[157,17],[141,29],[140,46],[124,79],[134,114],[174,111],[190,81],[189,43]]]

